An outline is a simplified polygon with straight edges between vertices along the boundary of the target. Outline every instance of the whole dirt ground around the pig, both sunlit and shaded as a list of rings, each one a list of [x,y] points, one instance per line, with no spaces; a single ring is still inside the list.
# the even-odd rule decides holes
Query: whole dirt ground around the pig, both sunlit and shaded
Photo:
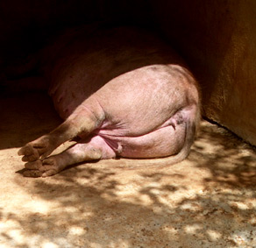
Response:
[[[18,147],[60,124],[46,94],[1,96],[0,247],[256,247],[256,152],[202,122],[185,161],[25,178]],[[137,160],[134,160],[136,163]]]

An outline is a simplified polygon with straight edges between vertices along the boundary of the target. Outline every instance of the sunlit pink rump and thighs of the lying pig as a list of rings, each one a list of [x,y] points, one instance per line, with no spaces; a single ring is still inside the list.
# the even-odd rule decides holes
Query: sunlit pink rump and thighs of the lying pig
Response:
[[[101,147],[103,158],[160,158],[181,151],[196,99],[181,72],[170,73],[177,68],[182,72],[157,65],[120,75],[80,105],[102,117],[88,142]],[[177,86],[190,87],[192,95]]]

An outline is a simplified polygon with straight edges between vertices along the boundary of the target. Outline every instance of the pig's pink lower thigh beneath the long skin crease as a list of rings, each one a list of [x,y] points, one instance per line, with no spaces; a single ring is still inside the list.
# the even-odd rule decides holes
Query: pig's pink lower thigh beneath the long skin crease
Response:
[[[168,125],[138,137],[117,137],[97,131],[93,138],[105,151],[124,158],[158,158],[181,151],[185,140],[185,125]],[[110,152],[108,152],[110,153]],[[109,157],[106,155],[106,157]]]

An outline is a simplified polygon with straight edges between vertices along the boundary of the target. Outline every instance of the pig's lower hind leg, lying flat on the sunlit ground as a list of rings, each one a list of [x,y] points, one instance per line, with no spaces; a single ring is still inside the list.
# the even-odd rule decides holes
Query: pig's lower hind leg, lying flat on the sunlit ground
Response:
[[[77,143],[66,151],[57,155],[50,156],[43,160],[27,162],[24,176],[46,177],[58,174],[64,168],[81,163],[83,161],[111,159],[116,154],[103,138],[96,136],[91,138],[88,143]]]

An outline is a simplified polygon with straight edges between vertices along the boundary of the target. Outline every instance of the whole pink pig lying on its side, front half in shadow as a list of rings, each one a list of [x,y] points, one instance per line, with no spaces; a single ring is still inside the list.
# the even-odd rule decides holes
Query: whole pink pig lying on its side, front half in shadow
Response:
[[[78,37],[56,55],[54,46],[47,50],[49,94],[65,121],[18,151],[27,162],[25,176],[57,174],[92,159],[171,156],[164,166],[185,159],[200,99],[195,79],[174,51],[127,27]],[[75,137],[81,138],[77,144],[48,157]]]

